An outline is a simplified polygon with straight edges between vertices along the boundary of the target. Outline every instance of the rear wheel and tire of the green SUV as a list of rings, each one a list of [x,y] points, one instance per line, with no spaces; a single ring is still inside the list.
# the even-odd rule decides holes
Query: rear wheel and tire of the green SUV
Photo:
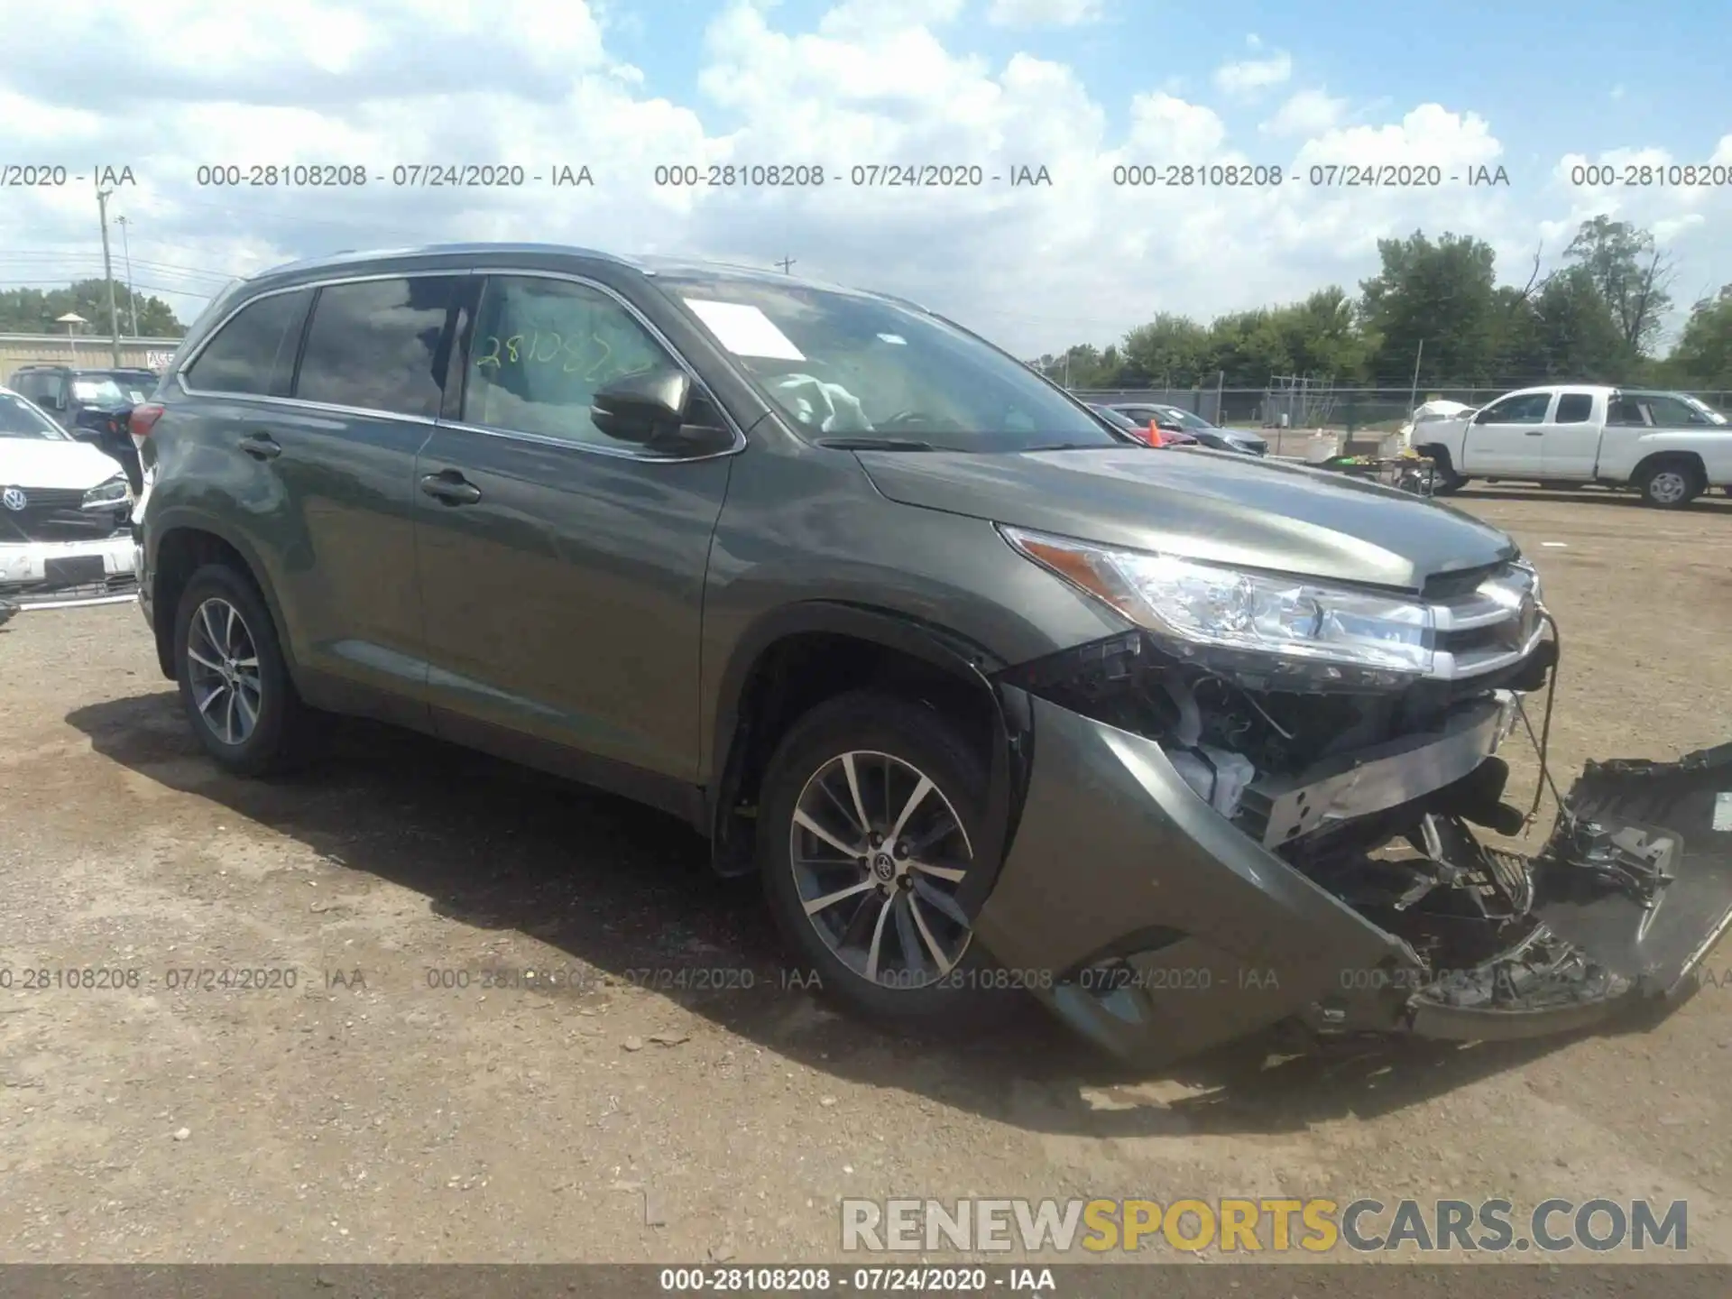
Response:
[[[313,717],[251,575],[210,563],[187,580],[175,608],[175,679],[192,733],[223,769],[274,776],[310,755]]]

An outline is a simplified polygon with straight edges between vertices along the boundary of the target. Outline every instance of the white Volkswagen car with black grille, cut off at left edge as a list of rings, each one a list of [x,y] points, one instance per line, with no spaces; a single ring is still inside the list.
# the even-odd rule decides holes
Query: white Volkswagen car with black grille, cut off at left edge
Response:
[[[130,518],[120,462],[0,388],[0,601],[132,599]]]

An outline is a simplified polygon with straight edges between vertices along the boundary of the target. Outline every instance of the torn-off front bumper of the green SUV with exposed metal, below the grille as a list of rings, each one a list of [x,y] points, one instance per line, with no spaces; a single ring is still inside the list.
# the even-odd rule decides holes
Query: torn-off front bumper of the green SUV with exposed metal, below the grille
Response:
[[[975,934],[1003,966],[1050,972],[1022,982],[1128,1060],[1276,1024],[1567,1032],[1680,998],[1732,925],[1732,745],[1588,764],[1543,849],[1521,856],[1467,828],[1522,824],[1495,755],[1510,691],[1464,693],[1425,731],[1282,778],[1218,762],[1204,797],[1185,771],[1195,745],[1025,677],[998,684],[1025,724],[1024,792]]]

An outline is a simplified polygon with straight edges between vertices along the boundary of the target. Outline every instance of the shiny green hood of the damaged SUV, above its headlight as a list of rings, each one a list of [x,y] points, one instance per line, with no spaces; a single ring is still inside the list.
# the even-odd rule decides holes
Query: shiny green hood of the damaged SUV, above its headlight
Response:
[[[890,501],[1245,568],[1420,591],[1514,540],[1408,492],[1230,452],[857,452]]]

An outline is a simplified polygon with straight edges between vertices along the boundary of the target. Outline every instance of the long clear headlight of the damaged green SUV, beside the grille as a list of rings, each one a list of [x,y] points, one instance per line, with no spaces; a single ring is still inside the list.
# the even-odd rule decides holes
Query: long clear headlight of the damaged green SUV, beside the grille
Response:
[[[1434,620],[1425,604],[1302,577],[999,530],[1022,554],[1162,636],[1178,653],[1205,646],[1294,667],[1344,665],[1401,675],[1422,675],[1432,667]],[[1325,675],[1339,674],[1325,667]]]

